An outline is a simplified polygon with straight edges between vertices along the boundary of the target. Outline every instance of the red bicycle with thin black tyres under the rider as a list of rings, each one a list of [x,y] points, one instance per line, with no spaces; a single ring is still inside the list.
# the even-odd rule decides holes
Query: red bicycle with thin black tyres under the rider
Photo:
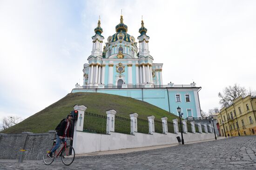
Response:
[[[56,138],[54,138],[53,140],[55,139]],[[64,138],[64,139],[70,139],[70,138]],[[57,150],[53,152],[52,158],[47,156],[47,154],[50,153],[50,151],[52,151],[55,145],[56,145],[56,142],[54,141],[52,147],[47,147],[44,150],[43,152],[44,163],[47,165],[52,164],[54,162],[54,159],[60,156],[63,164],[65,165],[72,164],[74,161],[75,152],[74,152],[74,148],[71,145],[67,145],[67,141],[64,142],[64,145],[62,146],[61,150],[58,153],[57,153]]]

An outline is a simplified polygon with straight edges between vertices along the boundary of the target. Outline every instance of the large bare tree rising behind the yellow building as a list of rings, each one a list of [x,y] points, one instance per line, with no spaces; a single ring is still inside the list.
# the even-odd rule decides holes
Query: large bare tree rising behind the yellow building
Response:
[[[245,97],[247,94],[248,92],[244,87],[234,84],[233,87],[229,86],[224,88],[223,93],[219,92],[218,96],[221,98],[220,104],[222,107],[229,107],[236,98],[240,96]]]

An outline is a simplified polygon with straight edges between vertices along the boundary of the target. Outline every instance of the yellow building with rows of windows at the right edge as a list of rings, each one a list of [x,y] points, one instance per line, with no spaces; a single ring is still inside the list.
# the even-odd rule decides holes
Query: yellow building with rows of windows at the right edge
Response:
[[[256,135],[256,96],[238,97],[217,116],[221,136]]]

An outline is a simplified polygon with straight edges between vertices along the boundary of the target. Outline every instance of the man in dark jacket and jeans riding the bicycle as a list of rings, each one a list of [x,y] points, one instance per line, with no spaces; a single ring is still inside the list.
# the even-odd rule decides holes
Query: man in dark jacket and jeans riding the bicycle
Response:
[[[67,115],[67,119],[63,119],[61,120],[60,124],[56,127],[55,131],[57,132],[56,134],[56,145],[54,146],[54,148],[52,149],[52,151],[50,151],[47,156],[52,158],[53,157],[53,152],[56,151],[60,145],[61,145],[61,141],[64,143],[66,141],[66,138],[70,138],[71,140],[73,140],[71,138],[71,133],[72,133],[72,115],[68,114]]]

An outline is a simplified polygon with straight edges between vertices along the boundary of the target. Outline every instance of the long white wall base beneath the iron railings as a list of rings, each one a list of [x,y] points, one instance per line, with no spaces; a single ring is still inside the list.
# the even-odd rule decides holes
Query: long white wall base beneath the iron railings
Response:
[[[134,132],[134,135],[110,132],[110,135],[105,135],[79,131],[75,135],[77,142],[75,142],[74,149],[77,154],[178,144],[176,137],[181,136],[180,132],[178,134],[153,132],[153,135],[138,132]],[[186,142],[215,139],[215,136],[214,133],[183,133],[183,138],[186,144]]]

